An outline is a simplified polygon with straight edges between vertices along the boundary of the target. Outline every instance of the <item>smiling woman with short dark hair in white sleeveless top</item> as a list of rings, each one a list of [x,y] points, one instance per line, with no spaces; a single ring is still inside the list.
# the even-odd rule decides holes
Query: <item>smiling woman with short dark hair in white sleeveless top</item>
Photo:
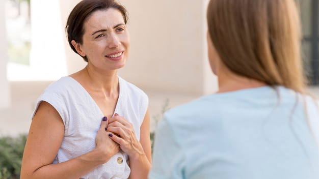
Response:
[[[88,63],[38,98],[21,178],[146,178],[148,97],[117,76],[129,55],[127,13],[113,0],[83,0],[69,15],[71,48]]]

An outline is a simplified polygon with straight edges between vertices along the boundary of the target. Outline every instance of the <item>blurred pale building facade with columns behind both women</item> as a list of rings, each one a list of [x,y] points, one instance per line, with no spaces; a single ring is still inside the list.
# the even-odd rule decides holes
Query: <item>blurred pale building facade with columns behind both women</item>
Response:
[[[31,52],[28,69],[7,69],[5,2],[0,1],[0,108],[10,106],[10,80],[54,81],[85,67],[69,47],[64,27],[79,0],[31,0]],[[299,1],[303,30],[303,58],[312,84],[319,83],[319,0]],[[206,52],[208,0],[121,0],[128,12],[130,57],[119,75],[137,86],[159,92],[194,95],[213,93],[217,78]],[[8,72],[8,73],[7,73]],[[19,80],[19,79],[15,79]]]

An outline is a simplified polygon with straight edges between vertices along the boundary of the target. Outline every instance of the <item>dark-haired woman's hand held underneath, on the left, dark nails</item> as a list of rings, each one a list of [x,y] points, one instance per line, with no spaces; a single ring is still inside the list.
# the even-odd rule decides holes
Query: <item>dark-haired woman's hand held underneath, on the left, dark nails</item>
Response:
[[[114,156],[120,150],[120,145],[109,137],[111,132],[107,131],[108,124],[108,118],[103,117],[100,129],[97,131],[95,137],[96,149],[102,151],[105,162],[110,159],[110,156]],[[114,133],[112,134],[114,135]]]

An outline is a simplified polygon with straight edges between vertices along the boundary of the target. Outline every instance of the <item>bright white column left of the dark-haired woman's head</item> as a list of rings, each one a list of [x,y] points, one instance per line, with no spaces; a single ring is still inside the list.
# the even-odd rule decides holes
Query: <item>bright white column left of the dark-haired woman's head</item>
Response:
[[[59,1],[31,1],[33,80],[57,80],[67,75]]]

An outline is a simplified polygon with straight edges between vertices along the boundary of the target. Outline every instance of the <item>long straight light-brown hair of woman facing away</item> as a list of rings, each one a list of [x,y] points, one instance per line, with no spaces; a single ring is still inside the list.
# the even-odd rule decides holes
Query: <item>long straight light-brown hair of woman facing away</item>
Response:
[[[211,0],[207,23],[221,61],[233,73],[304,91],[294,0]]]

